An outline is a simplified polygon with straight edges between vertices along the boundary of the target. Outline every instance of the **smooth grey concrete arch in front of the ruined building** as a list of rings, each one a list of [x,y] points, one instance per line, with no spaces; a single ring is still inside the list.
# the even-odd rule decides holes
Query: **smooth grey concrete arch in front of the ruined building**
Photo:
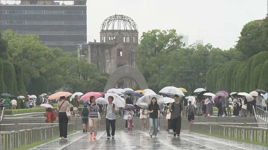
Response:
[[[114,88],[116,83],[123,78],[130,78],[134,80],[139,89],[148,89],[147,82],[138,69],[132,66],[122,66],[117,68],[112,75],[110,75],[103,93],[106,93],[109,89]]]

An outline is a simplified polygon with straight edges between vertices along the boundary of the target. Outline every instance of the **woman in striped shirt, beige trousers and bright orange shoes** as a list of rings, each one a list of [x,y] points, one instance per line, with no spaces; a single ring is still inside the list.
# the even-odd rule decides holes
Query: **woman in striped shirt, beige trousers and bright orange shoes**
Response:
[[[89,119],[89,131],[90,131],[90,139],[92,139],[92,133],[94,131],[93,139],[96,139],[97,131],[98,131],[98,111],[99,105],[95,103],[95,97],[91,96],[89,99],[90,104],[88,105],[88,119]]]

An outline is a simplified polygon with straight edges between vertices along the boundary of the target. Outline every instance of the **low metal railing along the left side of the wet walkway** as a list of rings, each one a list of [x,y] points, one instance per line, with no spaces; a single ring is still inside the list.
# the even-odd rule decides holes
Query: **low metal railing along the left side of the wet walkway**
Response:
[[[71,131],[73,131],[73,124],[68,123],[67,132]],[[60,133],[58,125],[23,129],[19,131],[3,131],[0,132],[0,150],[20,148],[23,145],[28,145],[34,142],[42,141],[44,139],[57,137],[59,136],[59,134]]]

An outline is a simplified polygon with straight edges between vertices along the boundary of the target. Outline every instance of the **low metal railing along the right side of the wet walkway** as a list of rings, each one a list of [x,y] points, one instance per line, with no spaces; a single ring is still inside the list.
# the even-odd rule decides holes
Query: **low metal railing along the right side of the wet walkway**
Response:
[[[228,123],[226,123],[228,124]],[[212,135],[231,137],[259,143],[268,142],[268,129],[261,127],[242,127],[236,125],[220,125],[207,123],[191,123],[190,131]]]

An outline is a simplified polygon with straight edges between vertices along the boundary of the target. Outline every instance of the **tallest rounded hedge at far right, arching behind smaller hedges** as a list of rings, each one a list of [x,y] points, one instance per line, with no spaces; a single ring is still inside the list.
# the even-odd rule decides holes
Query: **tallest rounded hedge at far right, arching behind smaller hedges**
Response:
[[[252,64],[251,64],[251,71],[250,71],[250,86],[249,87],[253,87],[253,73],[254,73],[254,69],[259,65],[259,64],[263,64],[268,57],[268,51],[262,51],[258,54],[255,55]],[[254,89],[249,88],[248,92],[252,91]]]

